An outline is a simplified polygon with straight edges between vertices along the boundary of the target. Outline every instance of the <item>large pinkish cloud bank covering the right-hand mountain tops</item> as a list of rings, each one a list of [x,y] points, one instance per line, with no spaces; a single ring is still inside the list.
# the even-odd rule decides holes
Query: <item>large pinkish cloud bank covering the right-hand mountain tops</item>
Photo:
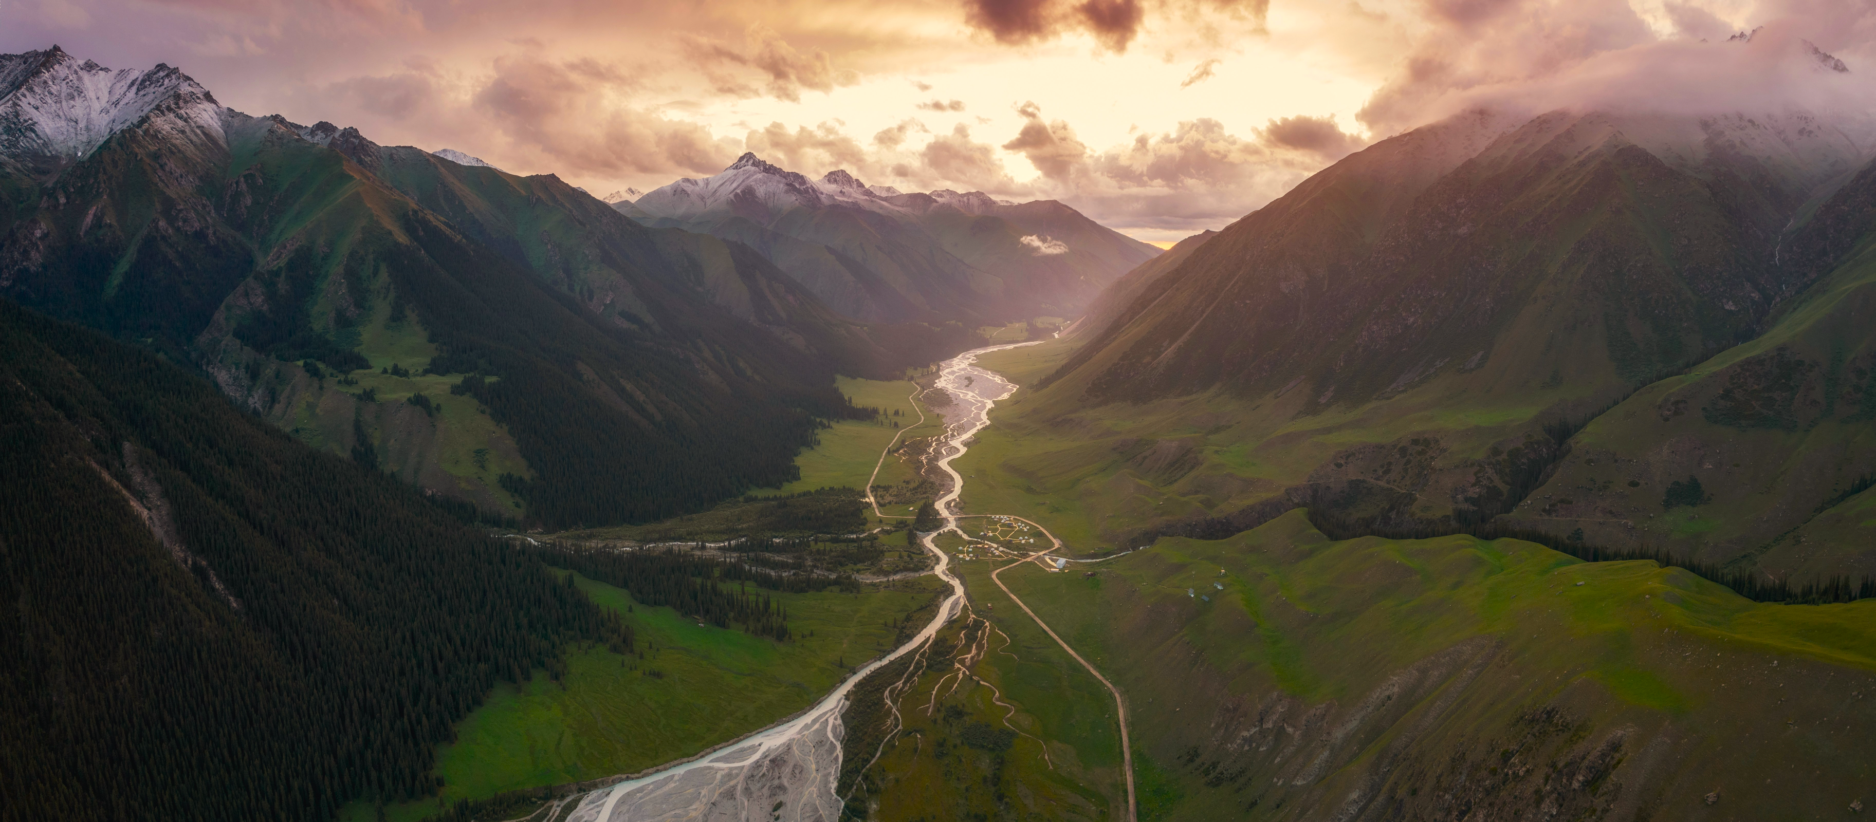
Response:
[[[1872,88],[1825,71],[1825,51],[1868,49],[1876,6],[1763,0],[1765,26],[1726,41],[1732,24],[1703,4],[1668,2],[1657,34],[1626,0],[1430,0],[1431,26],[1356,118],[1398,133],[1471,107],[1718,114],[1868,109]],[[1700,41],[1705,38],[1707,41]]]

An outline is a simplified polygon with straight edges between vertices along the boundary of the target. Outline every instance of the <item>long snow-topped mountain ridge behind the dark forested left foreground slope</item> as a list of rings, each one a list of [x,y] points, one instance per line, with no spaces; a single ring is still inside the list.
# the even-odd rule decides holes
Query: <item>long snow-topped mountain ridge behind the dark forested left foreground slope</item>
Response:
[[[0,175],[0,293],[137,340],[304,441],[486,516],[655,520],[786,482],[812,419],[852,413],[831,360],[884,362],[865,349],[870,330],[747,250],[675,233],[658,246],[559,180],[381,156],[356,129],[223,109],[173,69],[109,73],[56,49],[6,66],[0,107],[34,118],[9,131],[21,137]],[[167,96],[90,96],[114,107],[58,114],[49,101],[79,99],[60,96],[73,77]],[[118,128],[43,137],[56,131],[43,124],[81,120]],[[422,165],[446,169],[416,191],[405,171]],[[445,178],[480,180],[514,208],[437,190]],[[606,221],[578,229],[595,214]],[[542,229],[580,240],[535,242]],[[597,259],[606,242],[628,259]],[[582,261],[553,259],[563,251]],[[568,276],[595,268],[630,291]],[[747,306],[739,317],[719,300]],[[904,330],[921,332],[942,336]],[[816,342],[844,347],[824,358]],[[912,362],[929,362],[929,345],[904,342]]]

